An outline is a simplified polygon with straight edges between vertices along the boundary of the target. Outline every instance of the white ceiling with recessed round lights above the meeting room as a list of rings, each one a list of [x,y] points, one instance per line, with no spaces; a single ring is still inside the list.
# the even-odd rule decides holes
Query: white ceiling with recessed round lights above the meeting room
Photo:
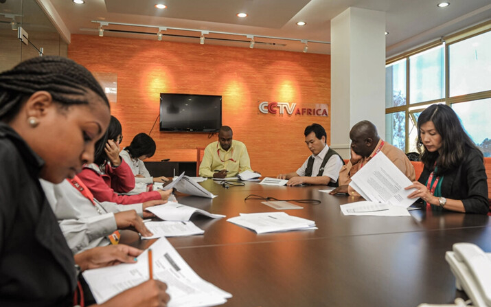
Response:
[[[71,34],[98,35],[98,24],[91,21],[109,21],[244,34],[205,36],[207,44],[239,47],[249,47],[246,34],[329,42],[330,20],[335,16],[350,7],[377,10],[386,13],[387,57],[491,20],[491,0],[448,0],[450,5],[446,8],[437,8],[437,3],[443,0],[85,0],[82,5],[71,0],[38,1],[51,2]],[[167,8],[157,10],[155,3],[163,3]],[[238,12],[247,12],[249,16],[240,19],[236,16]],[[297,21],[307,24],[298,26]],[[105,28],[104,36],[157,40],[156,35],[111,31],[155,34],[156,28],[115,25]],[[163,34],[163,41],[186,43],[198,43],[201,35],[176,30]],[[256,48],[294,52],[303,49],[295,41],[255,38],[255,42]],[[330,54],[330,45],[309,43],[308,52]]]

